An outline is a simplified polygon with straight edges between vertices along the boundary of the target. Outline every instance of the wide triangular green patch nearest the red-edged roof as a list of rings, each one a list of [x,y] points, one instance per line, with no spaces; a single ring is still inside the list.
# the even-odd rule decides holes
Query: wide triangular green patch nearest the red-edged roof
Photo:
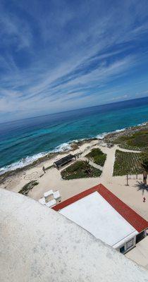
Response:
[[[61,177],[66,180],[99,176],[101,176],[101,171],[90,166],[87,161],[75,161],[74,164],[61,171]]]

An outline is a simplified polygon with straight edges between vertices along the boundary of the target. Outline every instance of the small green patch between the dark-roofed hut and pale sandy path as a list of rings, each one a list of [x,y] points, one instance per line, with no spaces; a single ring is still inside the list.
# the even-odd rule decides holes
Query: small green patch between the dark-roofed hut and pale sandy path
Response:
[[[85,157],[93,161],[95,164],[99,164],[100,166],[104,166],[104,162],[106,161],[106,154],[101,152],[101,149],[99,148],[92,149],[92,151]]]

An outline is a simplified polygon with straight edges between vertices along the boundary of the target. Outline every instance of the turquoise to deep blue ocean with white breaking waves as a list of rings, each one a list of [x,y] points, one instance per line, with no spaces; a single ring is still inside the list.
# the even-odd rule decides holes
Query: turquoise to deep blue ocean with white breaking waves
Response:
[[[104,137],[148,121],[148,97],[0,123],[0,173],[23,167],[73,140]]]

